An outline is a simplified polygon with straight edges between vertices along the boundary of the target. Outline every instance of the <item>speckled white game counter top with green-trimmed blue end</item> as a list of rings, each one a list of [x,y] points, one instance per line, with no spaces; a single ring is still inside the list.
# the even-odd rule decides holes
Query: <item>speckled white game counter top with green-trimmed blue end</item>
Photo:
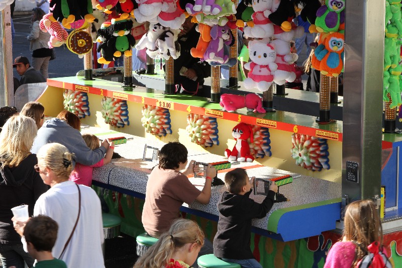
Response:
[[[148,174],[156,163],[142,160],[144,146],[147,144],[152,147],[161,148],[164,143],[156,139],[147,140],[95,127],[84,127],[82,132],[96,134],[99,138],[112,138],[123,135],[128,138],[126,144],[116,145],[115,147],[115,151],[123,158],[112,159],[111,163],[103,167],[94,168],[93,180],[105,185],[119,187],[129,192],[145,195]],[[226,160],[220,155],[191,150],[188,152],[188,159],[200,162]],[[280,234],[279,239],[288,241],[317,235],[325,230],[335,229],[335,222],[340,218],[340,184],[255,163],[243,162],[232,165],[232,169],[237,167],[247,169],[249,177],[272,178],[285,174],[293,176],[293,183],[279,188],[279,192],[285,195],[289,201],[275,203],[266,217],[253,220],[253,226],[261,229],[262,233],[277,233]],[[229,170],[220,170],[218,177],[223,180],[225,173]],[[200,190],[204,187],[204,178],[190,177],[189,180]],[[195,201],[191,204],[183,204],[182,209],[193,214],[209,215],[208,218],[217,220],[219,215],[217,203],[220,195],[225,190],[225,186],[213,187],[208,205]],[[251,194],[250,197],[258,203],[261,203],[265,198],[262,195],[254,194]]]

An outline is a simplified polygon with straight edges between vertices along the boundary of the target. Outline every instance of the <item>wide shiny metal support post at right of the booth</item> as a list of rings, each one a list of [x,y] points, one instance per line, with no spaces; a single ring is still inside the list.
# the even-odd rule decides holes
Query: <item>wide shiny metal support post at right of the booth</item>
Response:
[[[385,0],[346,1],[343,207],[380,195],[384,8]]]

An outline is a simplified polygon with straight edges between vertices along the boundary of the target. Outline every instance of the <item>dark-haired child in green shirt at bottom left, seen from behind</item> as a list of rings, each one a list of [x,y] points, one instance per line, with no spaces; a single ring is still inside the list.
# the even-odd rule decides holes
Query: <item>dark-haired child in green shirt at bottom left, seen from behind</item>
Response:
[[[25,225],[24,236],[28,252],[37,260],[35,268],[67,268],[64,261],[52,255],[58,228],[56,221],[44,215],[30,218]]]

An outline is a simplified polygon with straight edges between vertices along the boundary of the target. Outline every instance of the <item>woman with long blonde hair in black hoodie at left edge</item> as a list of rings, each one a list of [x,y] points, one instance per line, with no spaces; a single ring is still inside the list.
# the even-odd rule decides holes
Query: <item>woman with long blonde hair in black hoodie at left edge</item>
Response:
[[[30,152],[37,126],[32,118],[13,116],[0,133],[0,259],[3,267],[32,267],[34,259],[24,251],[21,237],[13,228],[11,208],[28,205],[32,215],[36,200],[48,190],[34,165]]]

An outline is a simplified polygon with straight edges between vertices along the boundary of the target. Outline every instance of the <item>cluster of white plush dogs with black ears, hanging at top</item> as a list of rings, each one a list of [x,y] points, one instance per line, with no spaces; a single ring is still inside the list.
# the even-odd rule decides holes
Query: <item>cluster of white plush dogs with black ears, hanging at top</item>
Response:
[[[153,59],[159,57],[168,60],[170,56],[177,59],[180,56],[178,33],[178,30],[164,27],[159,23],[151,24],[149,31],[136,45],[136,49],[147,48],[147,54]]]

